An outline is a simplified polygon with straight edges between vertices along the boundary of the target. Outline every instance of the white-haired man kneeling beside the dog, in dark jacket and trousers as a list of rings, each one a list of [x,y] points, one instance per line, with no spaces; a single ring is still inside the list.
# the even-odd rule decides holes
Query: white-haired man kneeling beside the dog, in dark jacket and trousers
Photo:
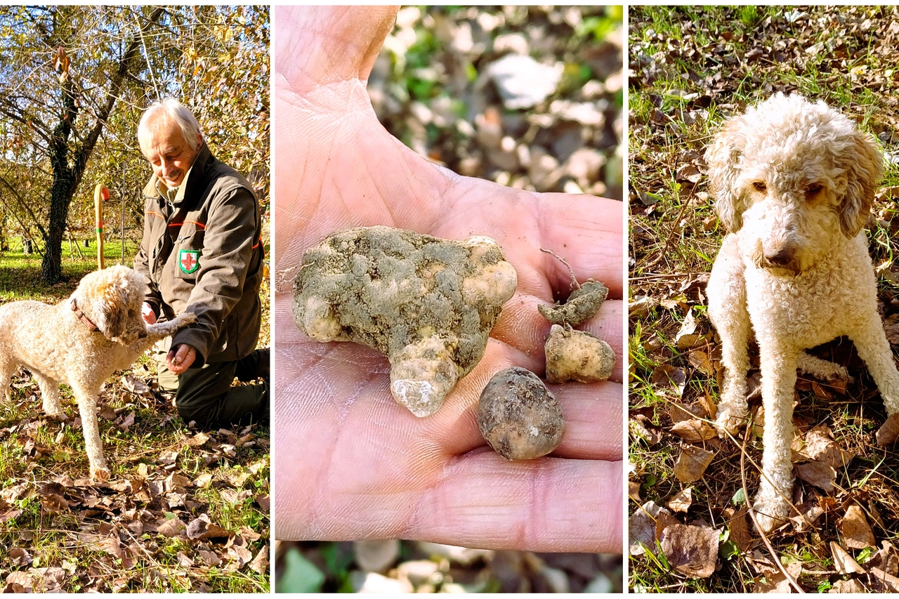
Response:
[[[219,162],[190,110],[154,103],[138,125],[153,167],[144,188],[144,237],[134,268],[150,281],[147,323],[193,312],[197,322],[159,355],[159,387],[185,423],[219,427],[268,416],[269,350],[259,338],[262,219],[245,178]],[[232,387],[235,376],[262,385]]]

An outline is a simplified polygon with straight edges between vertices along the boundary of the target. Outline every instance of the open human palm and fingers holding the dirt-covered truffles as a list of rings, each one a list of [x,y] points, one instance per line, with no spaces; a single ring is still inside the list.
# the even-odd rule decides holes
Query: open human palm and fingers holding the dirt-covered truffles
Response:
[[[364,79],[393,15],[378,8],[275,9],[276,510],[284,539],[426,539],[529,550],[621,550],[622,302],[584,328],[619,355],[611,382],[550,385],[566,420],[552,456],[510,462],[478,432],[476,404],[497,371],[544,371],[549,323],[537,306],[571,276],[621,297],[622,206],[461,177],[415,155],[378,123]],[[361,33],[360,33],[361,31]],[[368,36],[368,37],[367,37]],[[387,359],[319,344],[291,317],[302,254],[341,228],[388,225],[435,237],[488,235],[518,273],[484,358],[440,411],[393,400]]]

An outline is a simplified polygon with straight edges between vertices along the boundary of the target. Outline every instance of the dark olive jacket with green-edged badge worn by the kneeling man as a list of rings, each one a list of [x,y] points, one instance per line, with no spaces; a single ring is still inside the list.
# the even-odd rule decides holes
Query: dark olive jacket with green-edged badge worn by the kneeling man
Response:
[[[259,339],[263,278],[262,219],[253,188],[218,161],[206,144],[175,202],[144,188],[144,238],[134,268],[150,280],[147,303],[157,317],[193,312],[172,344],[197,350],[193,367],[229,362]]]

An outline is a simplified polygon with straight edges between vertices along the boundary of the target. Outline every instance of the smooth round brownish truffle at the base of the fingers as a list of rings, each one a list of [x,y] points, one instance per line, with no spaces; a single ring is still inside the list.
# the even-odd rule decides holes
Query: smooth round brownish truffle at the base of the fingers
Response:
[[[506,460],[533,460],[562,442],[562,407],[543,381],[518,366],[494,374],[477,403],[477,426]]]

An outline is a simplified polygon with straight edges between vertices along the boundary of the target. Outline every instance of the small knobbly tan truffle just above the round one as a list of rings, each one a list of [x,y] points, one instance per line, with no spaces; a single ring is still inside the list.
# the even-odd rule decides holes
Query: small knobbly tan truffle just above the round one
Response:
[[[553,383],[607,380],[615,365],[615,351],[609,344],[570,326],[553,325],[544,350],[547,353],[547,380]]]

